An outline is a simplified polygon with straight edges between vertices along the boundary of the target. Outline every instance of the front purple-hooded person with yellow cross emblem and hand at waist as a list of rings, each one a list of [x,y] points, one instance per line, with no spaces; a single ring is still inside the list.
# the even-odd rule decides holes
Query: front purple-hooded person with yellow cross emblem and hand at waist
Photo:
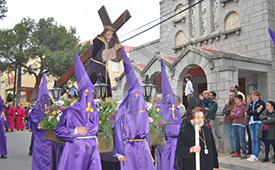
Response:
[[[79,100],[65,109],[55,128],[55,135],[66,141],[58,170],[101,170],[97,144],[99,113],[94,103],[94,86],[80,58],[75,53],[75,77]]]

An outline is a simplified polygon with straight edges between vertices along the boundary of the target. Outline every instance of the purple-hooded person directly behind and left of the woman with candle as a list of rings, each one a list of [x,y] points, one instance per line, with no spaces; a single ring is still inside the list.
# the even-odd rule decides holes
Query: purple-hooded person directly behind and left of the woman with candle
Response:
[[[158,148],[157,169],[173,170],[175,152],[177,147],[177,138],[180,131],[181,117],[179,109],[176,108],[175,95],[169,83],[163,61],[161,60],[161,79],[162,79],[162,101],[156,105],[160,109],[160,116],[167,120],[170,124],[165,127],[166,145]],[[174,110],[174,116],[172,109]]]

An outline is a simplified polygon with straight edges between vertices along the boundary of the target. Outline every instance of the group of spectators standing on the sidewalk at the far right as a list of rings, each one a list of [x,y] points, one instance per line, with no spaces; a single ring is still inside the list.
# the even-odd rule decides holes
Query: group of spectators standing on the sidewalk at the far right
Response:
[[[225,115],[228,128],[231,157],[246,159],[247,155],[251,154],[247,160],[258,161],[261,141],[265,145],[265,157],[261,162],[269,161],[270,145],[273,146],[275,153],[275,103],[274,101],[265,103],[260,96],[260,91],[254,90],[245,98],[237,85],[230,87],[229,102],[222,113]]]

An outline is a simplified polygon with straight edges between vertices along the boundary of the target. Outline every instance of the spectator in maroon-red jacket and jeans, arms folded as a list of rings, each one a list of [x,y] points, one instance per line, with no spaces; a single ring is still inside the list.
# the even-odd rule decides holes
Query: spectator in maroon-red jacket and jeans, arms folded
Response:
[[[235,141],[235,148],[237,152],[237,154],[232,155],[231,157],[241,157],[241,159],[245,159],[247,158],[245,141],[245,104],[242,101],[242,95],[236,95],[236,105],[230,112],[230,117],[233,119],[233,138]],[[240,153],[240,142],[242,143],[242,155]]]

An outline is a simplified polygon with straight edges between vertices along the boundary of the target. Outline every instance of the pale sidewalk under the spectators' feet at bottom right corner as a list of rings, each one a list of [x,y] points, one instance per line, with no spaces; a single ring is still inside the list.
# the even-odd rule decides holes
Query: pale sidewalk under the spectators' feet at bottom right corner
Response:
[[[259,161],[249,162],[246,159],[241,158],[231,158],[228,153],[219,153],[219,166],[222,168],[232,169],[232,170],[272,170],[275,169],[275,164],[273,164],[273,159],[269,159],[269,162],[262,163],[262,155],[259,155]],[[248,156],[250,157],[250,155]]]

